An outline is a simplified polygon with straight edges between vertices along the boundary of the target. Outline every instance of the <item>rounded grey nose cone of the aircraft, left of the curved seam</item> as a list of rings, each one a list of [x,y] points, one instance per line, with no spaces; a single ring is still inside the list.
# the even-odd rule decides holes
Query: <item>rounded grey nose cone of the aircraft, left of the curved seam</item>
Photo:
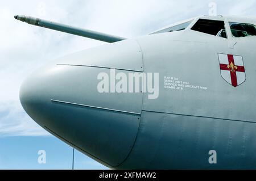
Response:
[[[135,40],[84,50],[36,70],[20,87],[20,102],[48,132],[116,167],[133,147],[143,96],[99,92],[98,75],[110,75],[110,68],[125,74],[142,71],[141,49]]]

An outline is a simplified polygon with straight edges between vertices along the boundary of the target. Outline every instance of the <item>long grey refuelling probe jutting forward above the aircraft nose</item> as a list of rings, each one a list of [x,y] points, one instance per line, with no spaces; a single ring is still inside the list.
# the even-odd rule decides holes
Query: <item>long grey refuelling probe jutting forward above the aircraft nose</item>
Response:
[[[123,37],[108,35],[106,33],[101,33],[101,32],[92,31],[92,30],[86,30],[86,29],[78,28],[78,27],[72,27],[72,26],[68,26],[65,24],[61,24],[61,23],[56,23],[56,22],[51,22],[51,21],[44,20],[44,19],[34,18],[31,16],[15,15],[14,18],[18,19],[22,22],[26,22],[28,24],[35,25],[35,26],[49,28],[51,30],[56,30],[56,31],[62,31],[62,32],[73,34],[73,35],[84,36],[84,37],[88,37],[90,39],[106,41],[108,43],[125,40],[125,38],[123,38]]]

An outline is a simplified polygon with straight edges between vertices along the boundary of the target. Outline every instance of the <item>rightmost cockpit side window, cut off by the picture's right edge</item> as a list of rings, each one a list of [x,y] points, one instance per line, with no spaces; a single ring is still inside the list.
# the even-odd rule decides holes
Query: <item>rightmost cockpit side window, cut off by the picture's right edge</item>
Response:
[[[256,36],[256,26],[246,23],[229,23],[232,35],[234,37]]]

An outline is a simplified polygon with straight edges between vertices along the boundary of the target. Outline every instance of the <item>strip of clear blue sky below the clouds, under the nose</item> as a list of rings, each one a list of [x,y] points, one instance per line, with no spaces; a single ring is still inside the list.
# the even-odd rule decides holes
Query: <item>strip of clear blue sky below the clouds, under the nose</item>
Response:
[[[0,138],[0,169],[71,169],[73,149],[53,136]],[[38,163],[39,150],[46,163]],[[108,169],[75,150],[74,169]]]

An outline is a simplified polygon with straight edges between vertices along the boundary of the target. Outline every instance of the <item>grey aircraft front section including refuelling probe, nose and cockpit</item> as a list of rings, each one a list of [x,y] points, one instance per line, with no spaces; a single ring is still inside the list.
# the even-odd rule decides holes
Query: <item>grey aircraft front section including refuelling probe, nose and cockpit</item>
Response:
[[[15,16],[110,44],[36,70],[24,110],[112,169],[256,169],[256,19],[205,15],[135,39]]]

